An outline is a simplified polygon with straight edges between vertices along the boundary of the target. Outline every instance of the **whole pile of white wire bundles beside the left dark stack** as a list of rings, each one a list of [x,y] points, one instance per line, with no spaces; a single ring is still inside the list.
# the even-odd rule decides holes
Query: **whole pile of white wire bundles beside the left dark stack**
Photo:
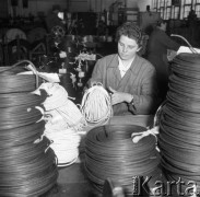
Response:
[[[47,91],[45,100],[45,136],[58,158],[58,166],[74,163],[79,155],[81,137],[79,130],[86,125],[77,105],[68,99],[66,89],[58,83],[45,83],[39,89]]]

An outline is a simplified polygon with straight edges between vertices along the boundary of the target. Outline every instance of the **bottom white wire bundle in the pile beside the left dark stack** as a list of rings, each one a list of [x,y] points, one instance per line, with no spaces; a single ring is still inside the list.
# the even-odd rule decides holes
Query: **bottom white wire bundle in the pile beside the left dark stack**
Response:
[[[45,135],[51,140],[50,148],[57,155],[58,166],[68,166],[77,161],[81,140],[79,134],[73,129],[46,129]]]

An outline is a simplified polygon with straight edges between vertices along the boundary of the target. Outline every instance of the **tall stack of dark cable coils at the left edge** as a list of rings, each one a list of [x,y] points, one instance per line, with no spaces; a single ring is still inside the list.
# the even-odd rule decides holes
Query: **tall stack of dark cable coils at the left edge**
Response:
[[[0,68],[0,196],[7,197],[40,196],[58,177],[55,152],[43,137],[46,94],[34,94],[36,79],[17,76],[22,70]]]

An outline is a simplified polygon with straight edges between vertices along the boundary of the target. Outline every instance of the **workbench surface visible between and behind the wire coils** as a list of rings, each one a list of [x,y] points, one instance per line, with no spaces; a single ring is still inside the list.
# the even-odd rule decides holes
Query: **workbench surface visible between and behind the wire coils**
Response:
[[[138,125],[138,126],[152,126],[154,116],[152,115],[127,115],[115,116],[109,119],[107,124],[110,125]],[[93,126],[94,127],[94,126]],[[85,127],[87,132],[93,128]],[[85,132],[85,134],[86,134]],[[101,197],[102,195],[95,190],[87,177],[84,174],[84,136],[80,144],[80,158],[75,163],[70,166],[59,169],[58,186],[54,189],[51,197]]]

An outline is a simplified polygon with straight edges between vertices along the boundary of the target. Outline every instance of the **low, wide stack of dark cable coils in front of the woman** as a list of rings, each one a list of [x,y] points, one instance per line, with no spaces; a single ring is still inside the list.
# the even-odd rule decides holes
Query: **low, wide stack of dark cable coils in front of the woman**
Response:
[[[103,192],[104,181],[109,178],[122,186],[127,195],[132,195],[136,176],[145,178],[157,175],[155,137],[150,135],[138,143],[131,139],[132,132],[145,130],[134,125],[106,125],[87,132],[84,166],[89,179],[98,192]]]

